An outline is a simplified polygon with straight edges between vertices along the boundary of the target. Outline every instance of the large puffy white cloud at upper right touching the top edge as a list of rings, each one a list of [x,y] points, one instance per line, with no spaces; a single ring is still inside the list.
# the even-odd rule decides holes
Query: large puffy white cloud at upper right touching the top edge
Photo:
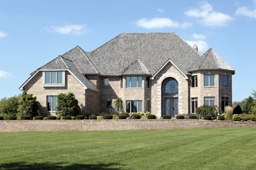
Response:
[[[199,22],[206,26],[226,26],[226,23],[233,20],[231,16],[225,13],[213,11],[213,6],[207,1],[201,2],[199,8],[194,8],[184,12],[187,16],[198,18]]]

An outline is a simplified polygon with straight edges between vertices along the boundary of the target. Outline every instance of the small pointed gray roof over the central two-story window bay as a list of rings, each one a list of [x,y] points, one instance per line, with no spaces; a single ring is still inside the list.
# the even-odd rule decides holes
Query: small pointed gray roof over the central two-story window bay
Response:
[[[124,69],[122,74],[149,74],[149,69],[142,63],[141,60],[137,59],[132,64]]]

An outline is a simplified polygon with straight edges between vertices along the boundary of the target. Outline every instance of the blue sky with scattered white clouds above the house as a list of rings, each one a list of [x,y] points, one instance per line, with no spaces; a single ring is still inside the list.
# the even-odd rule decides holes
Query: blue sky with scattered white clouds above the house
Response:
[[[256,0],[0,1],[0,98],[76,45],[92,51],[120,33],[175,32],[235,69],[233,101],[256,90]]]

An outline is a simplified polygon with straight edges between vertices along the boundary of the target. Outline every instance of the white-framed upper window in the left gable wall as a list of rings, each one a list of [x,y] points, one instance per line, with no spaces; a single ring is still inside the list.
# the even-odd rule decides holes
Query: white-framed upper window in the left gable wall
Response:
[[[45,72],[45,84],[63,84],[63,72]]]

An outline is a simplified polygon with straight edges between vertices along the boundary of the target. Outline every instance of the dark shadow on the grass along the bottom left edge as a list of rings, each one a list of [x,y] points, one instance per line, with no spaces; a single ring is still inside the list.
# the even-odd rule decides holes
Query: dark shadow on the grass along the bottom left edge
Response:
[[[64,162],[58,163],[26,163],[26,162],[14,162],[10,164],[0,164],[0,169],[103,169],[103,170],[119,170],[120,168],[112,168],[111,166],[123,166],[121,164],[65,164]]]

